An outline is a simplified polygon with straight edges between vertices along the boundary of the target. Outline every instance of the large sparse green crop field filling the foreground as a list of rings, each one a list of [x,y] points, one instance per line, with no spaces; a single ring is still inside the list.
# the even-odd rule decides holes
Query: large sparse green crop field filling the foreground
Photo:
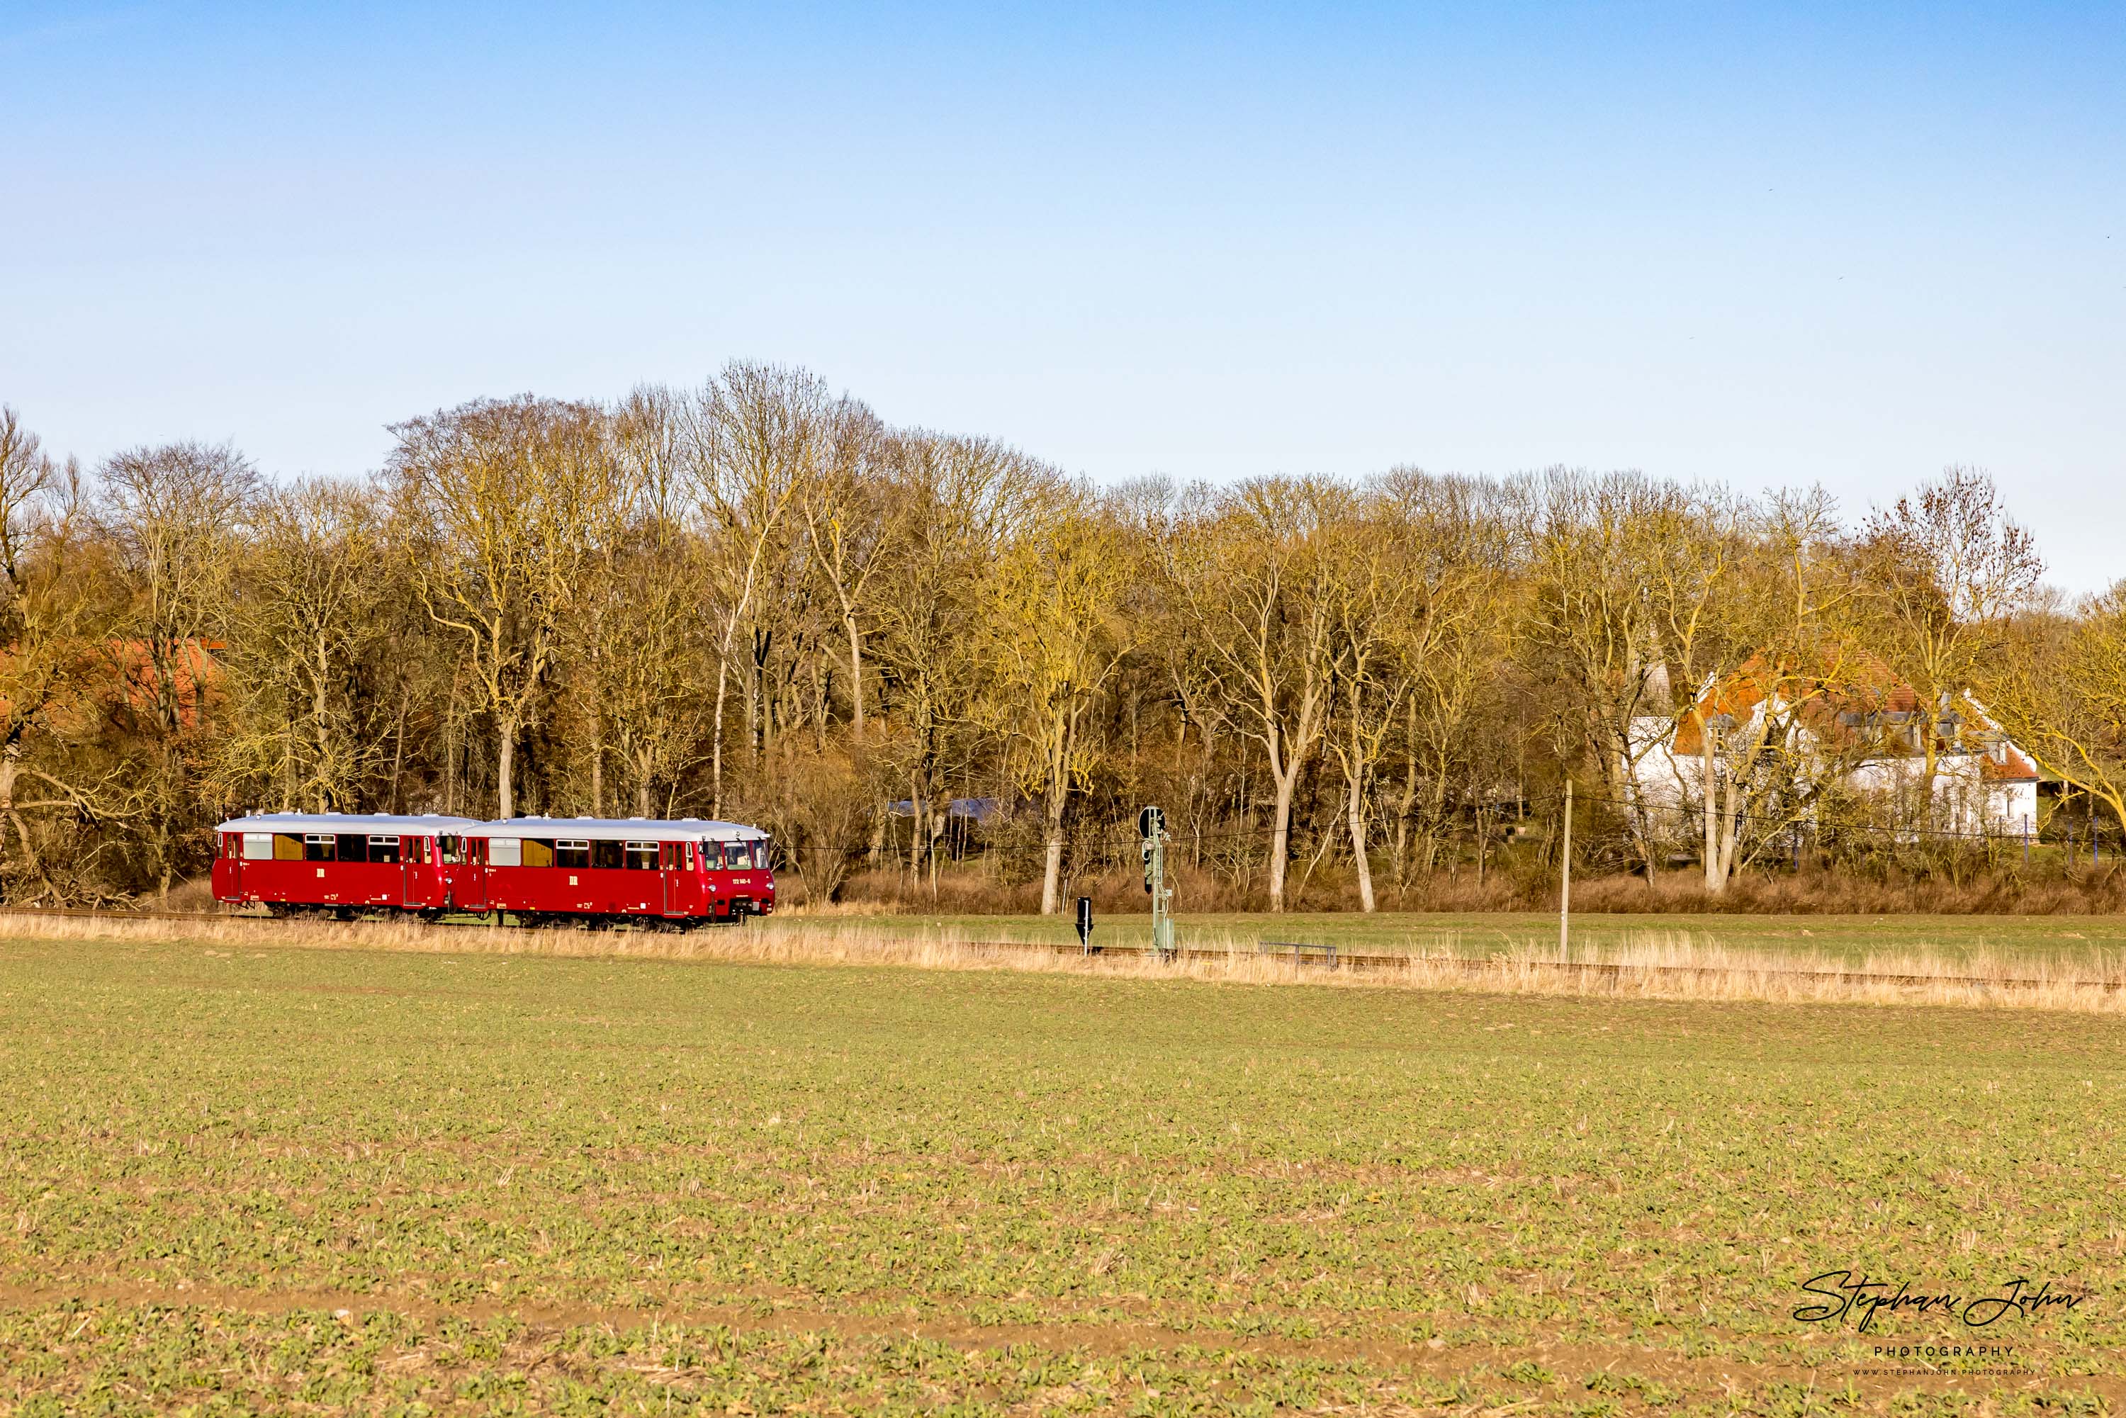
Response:
[[[2122,1065],[2090,1014],[0,942],[0,1412],[2103,1412]],[[2086,1299],[1794,1320],[1845,1267]]]

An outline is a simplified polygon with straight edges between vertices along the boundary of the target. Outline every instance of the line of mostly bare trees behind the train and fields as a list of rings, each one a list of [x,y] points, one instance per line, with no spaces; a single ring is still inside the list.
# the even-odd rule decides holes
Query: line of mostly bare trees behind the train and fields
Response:
[[[1639,801],[1643,725],[1860,663],[1984,695],[2126,821],[2126,589],[2045,591],[1973,470],[1854,519],[1637,472],[1095,487],[742,361],[391,438],[279,480],[202,442],[81,468],[0,417],[9,899],[168,893],[227,814],[336,810],[744,818],[814,901],[978,840],[1057,910],[1157,801],[1191,870],[1371,910],[1567,778],[1588,861],[1654,876],[1699,840]],[[1760,740],[1722,744],[1709,878],[1865,808]]]

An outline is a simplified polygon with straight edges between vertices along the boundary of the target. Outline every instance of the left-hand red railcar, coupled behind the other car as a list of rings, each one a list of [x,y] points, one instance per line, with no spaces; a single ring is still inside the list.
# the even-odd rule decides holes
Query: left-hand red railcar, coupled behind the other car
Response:
[[[451,908],[446,850],[478,823],[463,816],[266,812],[223,823],[215,899],[274,914]]]

